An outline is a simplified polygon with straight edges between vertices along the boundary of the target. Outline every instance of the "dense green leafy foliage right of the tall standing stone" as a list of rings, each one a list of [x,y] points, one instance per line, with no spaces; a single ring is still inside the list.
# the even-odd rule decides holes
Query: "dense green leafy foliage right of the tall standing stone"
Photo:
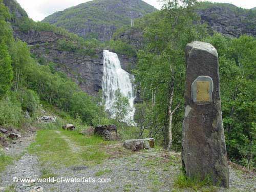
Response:
[[[214,45],[219,53],[222,116],[228,156],[249,169],[255,168],[256,38],[241,36],[229,39],[215,34],[205,40]]]

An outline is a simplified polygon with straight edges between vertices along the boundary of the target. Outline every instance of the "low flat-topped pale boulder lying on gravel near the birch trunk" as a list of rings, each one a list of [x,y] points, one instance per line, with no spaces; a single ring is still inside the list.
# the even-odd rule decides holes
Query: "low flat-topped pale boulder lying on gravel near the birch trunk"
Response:
[[[126,140],[123,143],[124,148],[132,151],[139,151],[139,150],[149,150],[150,148],[155,147],[155,139],[153,138],[146,138],[146,139],[130,139]]]

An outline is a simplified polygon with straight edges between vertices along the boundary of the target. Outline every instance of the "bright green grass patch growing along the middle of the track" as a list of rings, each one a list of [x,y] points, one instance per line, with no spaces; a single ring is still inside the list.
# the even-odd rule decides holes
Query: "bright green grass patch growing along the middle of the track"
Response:
[[[60,133],[56,133],[59,131]],[[81,150],[75,150],[63,138],[77,144]],[[102,150],[102,138],[86,137],[77,132],[62,130],[40,130],[37,132],[36,141],[28,147],[31,154],[36,154],[42,166],[50,165],[60,168],[72,165],[99,164],[109,155]],[[84,147],[82,147],[84,146]]]

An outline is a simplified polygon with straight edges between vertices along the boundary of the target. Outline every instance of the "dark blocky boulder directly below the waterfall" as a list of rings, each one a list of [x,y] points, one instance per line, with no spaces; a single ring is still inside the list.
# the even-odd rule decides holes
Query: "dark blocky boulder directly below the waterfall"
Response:
[[[105,140],[119,140],[116,125],[100,125],[94,129],[95,135],[102,136]]]

